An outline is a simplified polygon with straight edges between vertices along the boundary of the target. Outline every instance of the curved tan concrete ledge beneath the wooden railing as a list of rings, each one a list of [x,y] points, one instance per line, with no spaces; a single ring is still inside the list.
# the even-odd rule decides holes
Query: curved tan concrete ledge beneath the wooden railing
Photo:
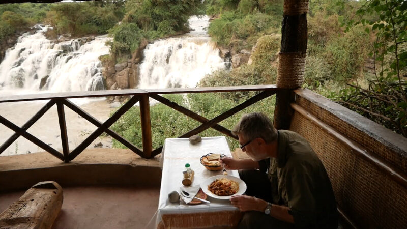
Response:
[[[128,149],[86,149],[70,163],[47,152],[1,156],[0,191],[27,189],[40,181],[61,186],[118,184],[159,187],[159,157],[144,159]]]

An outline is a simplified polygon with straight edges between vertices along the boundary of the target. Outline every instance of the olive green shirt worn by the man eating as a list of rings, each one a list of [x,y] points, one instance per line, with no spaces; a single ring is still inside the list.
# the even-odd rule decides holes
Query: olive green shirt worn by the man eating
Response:
[[[271,182],[274,204],[290,208],[296,227],[337,228],[335,196],[324,165],[299,134],[278,131],[278,155],[259,162]]]

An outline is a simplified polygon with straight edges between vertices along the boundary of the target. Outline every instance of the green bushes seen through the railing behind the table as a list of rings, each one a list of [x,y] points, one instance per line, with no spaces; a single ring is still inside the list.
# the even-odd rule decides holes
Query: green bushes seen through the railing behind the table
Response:
[[[220,97],[221,94],[225,93],[191,93],[187,94],[186,97],[181,94],[174,94],[165,95],[164,97],[196,113],[199,113],[208,119],[212,119],[220,115],[220,113],[238,105],[245,100],[242,99],[234,102]],[[273,118],[274,104],[275,97],[269,97],[247,107],[246,109],[236,113],[234,116],[223,120],[219,124],[225,128],[231,129],[239,121],[243,113],[254,111],[265,112],[270,118]],[[165,138],[177,138],[201,124],[161,103],[150,107],[150,117],[152,121],[151,132],[153,148],[160,147],[164,143]],[[135,106],[130,108],[117,122],[112,125],[111,129],[119,133],[128,141],[132,142],[138,148],[142,148],[139,107]],[[199,135],[202,137],[207,137],[222,136],[223,134],[210,128],[199,133]],[[238,146],[238,142],[236,140],[234,141],[234,146]],[[113,139],[113,147],[126,148],[115,139]]]

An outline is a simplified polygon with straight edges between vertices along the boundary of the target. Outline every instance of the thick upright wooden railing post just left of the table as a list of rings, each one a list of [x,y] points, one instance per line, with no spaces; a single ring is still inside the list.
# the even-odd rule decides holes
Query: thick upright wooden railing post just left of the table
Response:
[[[149,96],[142,95],[140,99],[141,135],[143,138],[143,157],[150,158],[153,151],[151,139],[150,101]]]

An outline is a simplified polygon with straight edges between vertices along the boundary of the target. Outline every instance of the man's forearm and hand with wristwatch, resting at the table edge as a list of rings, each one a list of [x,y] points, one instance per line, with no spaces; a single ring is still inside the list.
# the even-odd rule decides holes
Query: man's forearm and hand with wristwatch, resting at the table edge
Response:
[[[259,211],[264,212],[267,202],[256,197],[240,195],[230,198],[232,205],[238,207],[241,211]],[[272,205],[270,215],[278,220],[294,223],[293,215],[289,214],[290,209],[286,206]]]

